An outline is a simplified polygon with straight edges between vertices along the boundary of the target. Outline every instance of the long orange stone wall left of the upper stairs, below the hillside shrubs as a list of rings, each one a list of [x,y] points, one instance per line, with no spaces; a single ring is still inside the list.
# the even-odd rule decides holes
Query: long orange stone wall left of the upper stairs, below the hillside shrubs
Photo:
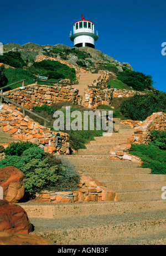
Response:
[[[32,109],[33,106],[51,105],[61,101],[69,101],[74,104],[81,104],[79,90],[69,87],[61,88],[59,86],[30,84],[16,88],[3,93],[6,98],[15,103],[24,106],[26,109]]]

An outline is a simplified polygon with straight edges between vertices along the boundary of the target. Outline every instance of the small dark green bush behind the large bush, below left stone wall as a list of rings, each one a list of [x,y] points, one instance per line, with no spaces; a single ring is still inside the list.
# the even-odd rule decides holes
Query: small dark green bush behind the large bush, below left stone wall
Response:
[[[20,156],[24,150],[29,149],[30,147],[38,147],[32,142],[13,142],[5,150],[4,153],[9,156]]]

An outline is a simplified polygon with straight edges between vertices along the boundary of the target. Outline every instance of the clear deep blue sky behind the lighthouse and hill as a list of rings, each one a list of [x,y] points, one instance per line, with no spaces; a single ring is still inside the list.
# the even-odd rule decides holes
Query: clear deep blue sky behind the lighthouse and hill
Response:
[[[95,23],[99,38],[95,48],[151,75],[154,87],[166,92],[165,0],[3,1],[0,42],[65,44],[72,24],[81,19]],[[165,50],[166,52],[166,50]]]

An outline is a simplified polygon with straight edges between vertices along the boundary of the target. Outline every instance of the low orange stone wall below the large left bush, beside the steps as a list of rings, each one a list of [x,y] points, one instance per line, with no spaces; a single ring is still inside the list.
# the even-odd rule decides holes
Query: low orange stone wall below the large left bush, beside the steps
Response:
[[[105,184],[92,180],[89,176],[81,176],[80,189],[68,192],[43,191],[36,194],[34,201],[50,203],[81,203],[118,201],[118,194],[107,188]]]

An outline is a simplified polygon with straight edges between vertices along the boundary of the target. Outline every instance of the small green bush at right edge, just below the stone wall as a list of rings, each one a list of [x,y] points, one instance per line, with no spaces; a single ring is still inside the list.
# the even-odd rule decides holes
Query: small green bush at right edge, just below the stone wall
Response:
[[[159,147],[159,149],[166,150],[166,132],[153,130],[150,132],[150,144]]]

